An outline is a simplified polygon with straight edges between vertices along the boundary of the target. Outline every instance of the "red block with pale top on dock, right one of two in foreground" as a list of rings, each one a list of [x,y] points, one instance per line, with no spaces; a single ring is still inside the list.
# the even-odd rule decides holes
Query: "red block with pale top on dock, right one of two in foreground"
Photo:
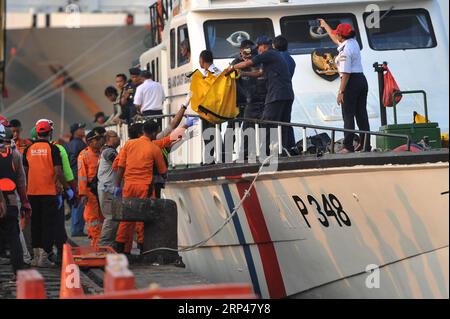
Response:
[[[103,290],[105,294],[135,289],[133,273],[128,269],[128,259],[123,254],[111,254],[106,257]]]

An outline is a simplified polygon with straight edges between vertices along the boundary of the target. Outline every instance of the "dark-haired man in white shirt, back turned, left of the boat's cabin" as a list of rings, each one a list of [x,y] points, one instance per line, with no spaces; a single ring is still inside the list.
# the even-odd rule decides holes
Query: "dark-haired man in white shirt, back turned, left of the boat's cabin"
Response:
[[[138,86],[134,97],[137,112],[144,116],[162,115],[165,99],[162,85],[153,81],[150,71],[141,71],[141,77],[144,79],[144,83]],[[157,122],[161,125],[162,118],[157,119]]]

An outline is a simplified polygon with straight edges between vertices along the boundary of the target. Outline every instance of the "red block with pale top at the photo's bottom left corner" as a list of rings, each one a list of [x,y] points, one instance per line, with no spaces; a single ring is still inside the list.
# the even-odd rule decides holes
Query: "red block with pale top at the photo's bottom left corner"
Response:
[[[34,269],[17,271],[17,299],[46,299],[42,275]]]

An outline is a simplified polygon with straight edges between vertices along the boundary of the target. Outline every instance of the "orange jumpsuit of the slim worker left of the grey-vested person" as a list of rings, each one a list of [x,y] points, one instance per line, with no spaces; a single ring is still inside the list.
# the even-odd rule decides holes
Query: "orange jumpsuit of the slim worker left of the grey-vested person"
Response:
[[[103,215],[100,212],[97,197],[89,190],[90,182],[97,174],[100,154],[94,153],[91,147],[85,148],[78,155],[78,192],[80,196],[87,196],[83,218],[86,222],[88,237],[91,245],[97,246],[102,231]]]

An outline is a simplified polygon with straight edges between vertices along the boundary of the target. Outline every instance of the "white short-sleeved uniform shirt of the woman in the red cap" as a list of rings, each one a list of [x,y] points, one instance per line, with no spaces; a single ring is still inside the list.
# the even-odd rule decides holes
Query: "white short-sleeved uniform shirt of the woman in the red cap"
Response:
[[[358,41],[348,39],[338,47],[338,56],[336,57],[336,66],[339,73],[363,73],[361,63],[361,48]]]

